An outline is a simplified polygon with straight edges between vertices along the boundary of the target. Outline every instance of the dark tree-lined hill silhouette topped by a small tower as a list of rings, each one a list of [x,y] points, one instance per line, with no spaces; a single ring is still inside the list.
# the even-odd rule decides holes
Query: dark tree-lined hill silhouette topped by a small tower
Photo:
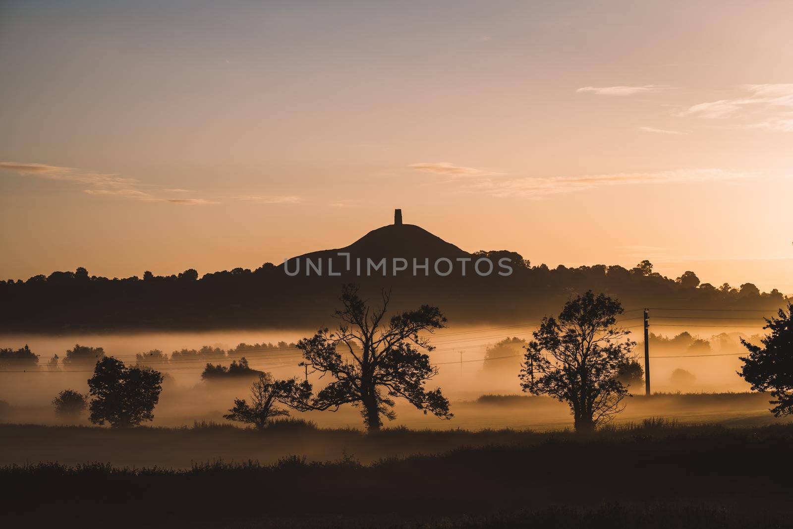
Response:
[[[347,269],[349,253],[351,266]],[[511,274],[479,275],[473,263],[510,259]],[[322,274],[307,270],[306,260],[321,265]],[[328,274],[328,259],[333,260]],[[355,261],[361,259],[362,274]],[[366,275],[371,259],[388,263],[387,273]],[[394,275],[393,259],[407,270]],[[414,275],[413,259],[419,266]],[[437,259],[454,264],[449,274],[433,267]],[[462,270],[461,260],[468,270]],[[295,263],[301,269],[294,272]],[[394,309],[437,305],[453,324],[516,324],[557,312],[576,293],[588,289],[617,297],[629,309],[672,306],[696,309],[768,309],[782,306],[778,291],[761,293],[752,283],[740,287],[700,284],[693,272],[665,278],[649,261],[623,266],[531,266],[516,252],[469,253],[413,224],[395,223],[374,229],[346,247],[314,251],[283,263],[264,263],[256,270],[235,268],[205,274],[196,270],[143,278],[102,278],[74,272],[36,275],[27,281],[0,282],[0,332],[94,332],[129,329],[191,330],[211,328],[317,328],[331,323],[341,286],[356,282],[365,296],[393,289]],[[447,266],[444,266],[446,268]]]

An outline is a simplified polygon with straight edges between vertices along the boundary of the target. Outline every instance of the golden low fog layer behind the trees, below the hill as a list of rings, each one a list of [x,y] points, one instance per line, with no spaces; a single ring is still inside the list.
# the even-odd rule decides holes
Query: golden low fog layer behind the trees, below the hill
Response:
[[[707,334],[690,334],[682,328],[650,335],[651,382],[653,393],[723,393],[745,392],[749,386],[736,370],[744,354],[739,338],[757,341],[757,328],[712,329]],[[528,397],[521,393],[518,373],[523,360],[523,345],[531,339],[532,328],[447,328],[432,339],[435,351],[430,353],[439,374],[429,382],[438,385],[453,401],[454,419],[438,420],[423,416],[404,402],[397,401],[397,420],[386,426],[408,427],[567,427],[569,412],[564,404],[545,397]],[[711,329],[708,329],[711,331]],[[301,351],[295,343],[311,335],[308,330],[209,332],[135,335],[86,336],[18,336],[5,335],[0,345],[18,349],[25,344],[39,355],[37,366],[4,362],[0,371],[0,420],[58,424],[52,399],[62,389],[87,393],[93,358],[80,358],[64,363],[67,350],[75,343],[83,347],[102,347],[105,355],[120,358],[128,365],[151,366],[165,375],[163,393],[155,408],[153,425],[191,425],[193,421],[223,422],[222,415],[233,405],[234,398],[245,398],[251,378],[208,381],[201,378],[207,363],[229,366],[246,358],[251,369],[262,370],[274,378],[304,376],[297,366]],[[641,335],[634,332],[634,340]],[[151,355],[162,351],[162,355]],[[644,365],[644,344],[635,347],[635,357]],[[49,362],[58,355],[59,364]],[[49,365],[48,365],[49,364]],[[317,385],[323,381],[310,377]],[[644,394],[643,384],[634,384],[631,393]],[[477,401],[482,395],[521,395],[510,399]],[[758,396],[760,397],[760,396]],[[745,405],[744,405],[745,404]],[[657,400],[653,408],[641,399],[629,399],[628,408],[619,421],[639,420],[653,415],[686,417],[691,420],[716,420],[731,411],[734,415],[765,413],[767,404],[761,398],[733,404],[699,401],[694,408],[675,401]],[[680,407],[682,405],[682,408]],[[360,427],[358,410],[343,408],[339,412],[293,412],[293,416],[315,421],[326,427]],[[84,417],[83,424],[87,424]]]

